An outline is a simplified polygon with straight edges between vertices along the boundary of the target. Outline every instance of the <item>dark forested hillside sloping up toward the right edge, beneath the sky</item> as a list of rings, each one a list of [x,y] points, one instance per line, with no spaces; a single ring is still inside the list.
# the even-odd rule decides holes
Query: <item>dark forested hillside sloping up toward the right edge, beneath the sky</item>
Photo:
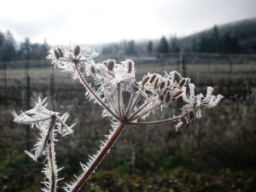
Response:
[[[256,19],[240,20],[213,26],[203,32],[180,39],[188,51],[240,54],[256,52]]]

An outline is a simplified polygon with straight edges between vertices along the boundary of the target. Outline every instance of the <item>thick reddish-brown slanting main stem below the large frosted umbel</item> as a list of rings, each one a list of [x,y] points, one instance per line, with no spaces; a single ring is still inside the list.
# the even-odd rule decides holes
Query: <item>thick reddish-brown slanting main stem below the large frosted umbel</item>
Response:
[[[71,192],[79,191],[79,189],[83,186],[88,177],[90,177],[90,174],[96,169],[96,166],[100,164],[105,154],[108,153],[109,148],[113,146],[113,143],[117,140],[121,131],[123,131],[125,125],[125,122],[119,123],[115,131],[113,131],[113,134],[110,137],[108,137],[107,143],[101,148],[101,151],[99,151],[99,153],[96,155],[95,160],[93,160],[93,162],[90,164],[90,167],[86,170],[86,172],[84,172],[83,176],[79,178],[79,181],[76,183]]]

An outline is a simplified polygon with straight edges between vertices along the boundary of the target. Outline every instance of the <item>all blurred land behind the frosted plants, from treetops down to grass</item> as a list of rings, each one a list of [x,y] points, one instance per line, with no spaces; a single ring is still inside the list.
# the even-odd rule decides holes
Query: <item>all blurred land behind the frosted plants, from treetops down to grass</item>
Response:
[[[256,189],[256,20],[212,26],[186,38],[125,40],[97,44],[97,60],[136,61],[137,78],[150,72],[178,70],[215,94],[225,96],[217,108],[183,131],[173,125],[127,127],[82,191],[255,191]],[[79,161],[94,154],[108,134],[101,108],[84,99],[83,87],[44,60],[49,49],[16,44],[0,32],[0,191],[38,191],[43,175],[26,157],[36,131],[16,125],[12,110],[31,108],[38,96],[49,108],[71,114],[71,137],[61,137],[57,162],[65,167],[61,183],[80,171]],[[152,118],[165,118],[172,106]]]

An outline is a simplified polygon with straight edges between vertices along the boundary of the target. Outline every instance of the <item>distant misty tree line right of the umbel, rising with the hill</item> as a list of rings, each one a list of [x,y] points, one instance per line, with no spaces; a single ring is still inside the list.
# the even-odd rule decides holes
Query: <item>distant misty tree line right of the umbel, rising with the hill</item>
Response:
[[[255,22],[256,25],[256,22]],[[107,44],[102,47],[102,55],[156,55],[179,53],[180,51],[216,54],[256,53],[256,27],[241,23],[225,26],[191,35],[186,38],[162,37],[159,40],[135,42],[126,41],[119,44]]]

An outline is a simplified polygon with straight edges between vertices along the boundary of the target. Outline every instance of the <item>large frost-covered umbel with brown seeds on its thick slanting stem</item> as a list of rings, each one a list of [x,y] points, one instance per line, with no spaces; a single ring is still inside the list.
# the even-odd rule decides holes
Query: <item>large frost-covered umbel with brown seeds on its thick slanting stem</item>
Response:
[[[183,129],[189,122],[201,118],[201,108],[213,108],[223,96],[212,96],[212,87],[207,88],[207,96],[195,96],[195,85],[189,78],[183,78],[176,71],[165,73],[146,74],[141,81],[135,78],[134,62],[126,60],[121,63],[108,60],[95,63],[97,54],[89,48],[79,45],[69,48],[53,48],[49,50],[48,59],[60,67],[64,72],[72,74],[84,85],[86,95],[90,100],[99,103],[103,108],[102,116],[108,116],[113,121],[113,136],[102,144],[100,151],[90,158],[90,163],[83,166],[84,173],[68,185],[67,191],[78,191],[104,154],[117,139],[125,125],[158,125],[177,122],[176,130]],[[91,77],[95,80],[93,86],[86,80]],[[130,96],[125,99],[124,95]],[[183,108],[179,115],[172,114],[168,119],[145,121],[150,113],[163,110],[178,98],[183,99]],[[111,143],[111,144],[109,144]],[[108,148],[108,150],[106,149]],[[100,160],[99,160],[100,158]],[[71,187],[72,186],[72,187]]]

